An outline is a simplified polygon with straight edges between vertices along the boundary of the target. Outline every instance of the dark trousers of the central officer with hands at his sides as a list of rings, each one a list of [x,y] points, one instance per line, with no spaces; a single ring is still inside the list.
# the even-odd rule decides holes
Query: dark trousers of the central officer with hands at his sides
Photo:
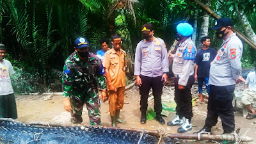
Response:
[[[162,112],[161,95],[163,92],[163,81],[162,76],[159,77],[147,77],[140,75],[141,86],[140,86],[140,111],[145,113],[148,108],[148,93],[150,88],[153,90],[154,95],[154,109],[157,114]]]

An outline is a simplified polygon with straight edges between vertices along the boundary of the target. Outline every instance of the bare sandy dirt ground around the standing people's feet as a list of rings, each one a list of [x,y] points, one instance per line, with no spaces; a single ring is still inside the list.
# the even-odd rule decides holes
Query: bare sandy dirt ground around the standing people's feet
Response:
[[[70,113],[63,109],[63,97],[61,95],[15,95],[17,102],[18,118],[20,122],[49,122],[70,124]],[[192,118],[192,131],[187,132],[191,134],[199,131],[203,126],[207,113],[207,102],[196,102],[193,107],[194,116]],[[149,106],[154,106],[154,100],[148,102]],[[108,104],[101,103],[101,121],[102,126],[111,126],[111,118],[109,116]],[[127,124],[118,124],[118,127],[160,130],[163,129],[165,133],[177,133],[178,126],[169,127],[166,124],[160,125],[156,120],[150,120],[147,124],[140,124],[140,95],[138,87],[127,90],[125,92],[125,104],[120,113],[121,117],[127,121]],[[256,120],[246,120],[243,118],[241,111],[235,113],[236,128],[241,128],[241,134],[246,134],[250,138],[254,138],[251,143],[256,143],[256,126],[253,122]],[[175,117],[175,113],[170,113],[168,117],[164,117],[166,123]],[[84,106],[83,123],[82,125],[89,125],[88,112]],[[221,121],[212,128],[213,134],[221,134],[223,132]]]

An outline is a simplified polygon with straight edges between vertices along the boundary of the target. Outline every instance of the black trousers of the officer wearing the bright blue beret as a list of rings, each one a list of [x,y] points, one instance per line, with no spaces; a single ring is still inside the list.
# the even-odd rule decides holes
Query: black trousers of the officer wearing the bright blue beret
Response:
[[[180,118],[183,116],[185,118],[192,118],[192,96],[191,96],[191,87],[195,82],[195,77],[189,76],[188,84],[185,86],[184,90],[179,90],[179,77],[175,77],[175,97],[174,100],[177,104],[176,106],[176,115],[179,115]]]

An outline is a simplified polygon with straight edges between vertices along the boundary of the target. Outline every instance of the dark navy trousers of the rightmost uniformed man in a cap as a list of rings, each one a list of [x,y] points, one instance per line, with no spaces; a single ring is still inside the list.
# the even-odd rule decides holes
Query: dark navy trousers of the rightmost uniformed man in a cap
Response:
[[[212,127],[216,125],[218,116],[220,116],[225,133],[230,133],[235,130],[234,107],[232,105],[232,93],[235,87],[235,84],[230,86],[210,85],[205,126]]]

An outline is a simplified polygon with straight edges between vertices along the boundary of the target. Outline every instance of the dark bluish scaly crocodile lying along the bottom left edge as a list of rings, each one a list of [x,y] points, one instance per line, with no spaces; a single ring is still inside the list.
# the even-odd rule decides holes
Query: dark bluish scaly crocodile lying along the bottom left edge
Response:
[[[157,136],[97,126],[43,126],[0,118],[0,143],[157,143]]]

